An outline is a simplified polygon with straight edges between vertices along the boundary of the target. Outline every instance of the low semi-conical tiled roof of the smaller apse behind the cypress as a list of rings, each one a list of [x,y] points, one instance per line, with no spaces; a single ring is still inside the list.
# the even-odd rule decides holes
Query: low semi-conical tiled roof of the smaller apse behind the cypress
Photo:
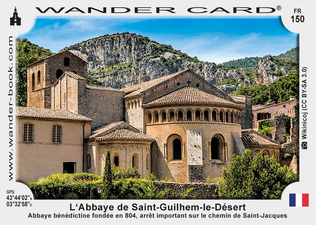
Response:
[[[96,141],[146,141],[153,142],[154,138],[147,134],[137,133],[129,129],[116,129],[111,133],[97,137]]]

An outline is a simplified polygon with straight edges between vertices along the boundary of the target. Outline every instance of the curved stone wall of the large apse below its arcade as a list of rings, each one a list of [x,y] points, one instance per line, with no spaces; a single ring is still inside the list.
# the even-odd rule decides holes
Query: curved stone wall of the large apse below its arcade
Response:
[[[186,112],[187,107],[182,107]],[[195,107],[190,107],[193,112]],[[160,111],[160,109],[157,109]],[[170,108],[165,108],[166,112]],[[176,108],[174,108],[176,111]],[[203,112],[203,108],[201,109]],[[221,109],[218,109],[221,110]],[[147,112],[147,111],[146,111]],[[194,114],[194,113],[193,113]],[[193,117],[194,120],[194,117]],[[146,124],[145,133],[154,137],[156,143],[152,144],[152,172],[163,179],[165,177],[187,181],[188,175],[188,137],[187,130],[201,130],[202,138],[202,161],[203,177],[220,177],[222,176],[223,167],[228,168],[231,162],[232,151],[234,148],[233,137],[231,132],[235,131],[241,136],[241,126],[239,124],[221,123],[221,122],[165,122]],[[178,135],[182,140],[182,160],[175,161],[172,159],[172,139],[170,137]],[[211,138],[217,135],[223,139],[223,148],[225,146],[225,156],[222,160],[210,159]],[[169,140],[170,139],[170,140]],[[190,139],[190,138],[189,138]],[[195,168],[193,168],[195,170]],[[197,168],[196,168],[197,169]]]

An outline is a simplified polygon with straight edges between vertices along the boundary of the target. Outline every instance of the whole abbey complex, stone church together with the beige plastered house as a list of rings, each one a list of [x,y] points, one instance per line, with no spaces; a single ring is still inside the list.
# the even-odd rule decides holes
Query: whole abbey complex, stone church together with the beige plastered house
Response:
[[[222,176],[248,148],[279,161],[279,143],[253,131],[251,96],[228,96],[186,69],[123,89],[87,84],[87,62],[65,50],[28,65],[17,107],[17,180],[102,175],[106,152],[142,177]],[[255,157],[255,154],[254,154]]]

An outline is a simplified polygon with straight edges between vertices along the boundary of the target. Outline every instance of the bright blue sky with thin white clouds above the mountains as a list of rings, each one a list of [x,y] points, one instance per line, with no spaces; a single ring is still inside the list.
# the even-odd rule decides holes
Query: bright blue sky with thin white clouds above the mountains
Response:
[[[199,60],[223,63],[267,54],[279,55],[298,46],[298,34],[273,17],[38,17],[21,38],[58,52],[104,34],[132,32]]]

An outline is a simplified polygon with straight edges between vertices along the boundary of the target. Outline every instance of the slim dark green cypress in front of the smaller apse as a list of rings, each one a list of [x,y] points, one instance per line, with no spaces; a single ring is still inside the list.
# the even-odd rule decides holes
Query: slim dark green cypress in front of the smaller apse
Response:
[[[101,190],[101,198],[109,199],[111,194],[113,193],[113,174],[111,167],[111,155],[110,152],[107,151],[106,159],[105,159],[105,168],[103,172],[103,185]]]

